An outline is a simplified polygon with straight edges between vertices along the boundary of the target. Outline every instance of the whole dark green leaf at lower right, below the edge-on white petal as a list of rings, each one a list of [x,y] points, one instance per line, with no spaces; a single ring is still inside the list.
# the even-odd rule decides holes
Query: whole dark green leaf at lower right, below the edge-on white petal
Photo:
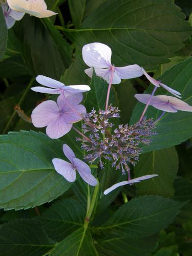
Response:
[[[172,223],[183,205],[158,196],[138,197],[122,205],[100,229],[117,237],[151,236]]]

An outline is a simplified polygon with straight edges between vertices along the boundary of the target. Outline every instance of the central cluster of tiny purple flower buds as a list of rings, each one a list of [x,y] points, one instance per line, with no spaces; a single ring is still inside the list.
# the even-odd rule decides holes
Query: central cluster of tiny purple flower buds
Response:
[[[127,163],[135,165],[141,153],[140,143],[149,144],[151,137],[156,134],[153,131],[155,124],[153,119],[143,118],[133,125],[120,124],[115,126],[109,121],[110,118],[119,118],[119,109],[109,106],[107,111],[99,110],[98,114],[93,109],[84,116],[82,132],[87,136],[77,138],[82,142],[82,149],[87,152],[84,157],[89,163],[96,159],[103,168],[101,158],[108,159],[116,169],[123,165],[127,169]]]

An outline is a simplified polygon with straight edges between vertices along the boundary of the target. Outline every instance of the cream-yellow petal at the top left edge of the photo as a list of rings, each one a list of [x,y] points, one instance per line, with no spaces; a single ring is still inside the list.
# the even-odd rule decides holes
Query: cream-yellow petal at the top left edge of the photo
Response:
[[[44,0],[7,0],[9,7],[15,11],[28,13],[37,18],[50,17],[56,12],[47,10]]]

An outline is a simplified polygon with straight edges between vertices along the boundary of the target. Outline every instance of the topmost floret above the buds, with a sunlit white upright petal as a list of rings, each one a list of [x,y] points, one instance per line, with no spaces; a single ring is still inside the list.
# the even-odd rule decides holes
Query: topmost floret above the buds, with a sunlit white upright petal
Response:
[[[120,68],[114,67],[111,63],[111,55],[111,48],[100,42],[84,45],[82,48],[82,58],[90,67],[90,69],[86,69],[84,72],[92,77],[94,68],[97,76],[110,82],[114,70],[112,84],[120,83],[121,79],[129,79],[143,75],[141,67],[136,64]]]

